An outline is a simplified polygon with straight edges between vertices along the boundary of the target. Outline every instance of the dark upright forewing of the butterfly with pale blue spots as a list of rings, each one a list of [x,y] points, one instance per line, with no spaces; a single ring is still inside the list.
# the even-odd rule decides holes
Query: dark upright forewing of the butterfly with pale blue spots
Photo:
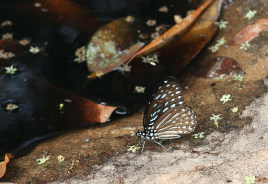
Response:
[[[185,106],[179,82],[174,77],[165,77],[157,86],[145,109],[143,127],[145,129],[153,127],[163,114],[179,106]]]

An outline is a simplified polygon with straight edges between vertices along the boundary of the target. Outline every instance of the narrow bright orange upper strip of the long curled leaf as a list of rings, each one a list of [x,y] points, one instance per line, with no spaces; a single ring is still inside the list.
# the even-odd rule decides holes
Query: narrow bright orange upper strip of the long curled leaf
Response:
[[[142,48],[139,52],[134,54],[126,64],[128,64],[138,55],[145,55],[156,51],[164,44],[167,44],[169,41],[171,41],[174,36],[183,37],[183,35],[189,31],[189,29],[193,26],[198,17],[203,13],[205,9],[207,9],[212,4],[212,2],[213,0],[205,2],[195,12],[185,17],[182,21],[170,28],[167,32],[163,33],[157,39],[153,40],[151,43]]]

